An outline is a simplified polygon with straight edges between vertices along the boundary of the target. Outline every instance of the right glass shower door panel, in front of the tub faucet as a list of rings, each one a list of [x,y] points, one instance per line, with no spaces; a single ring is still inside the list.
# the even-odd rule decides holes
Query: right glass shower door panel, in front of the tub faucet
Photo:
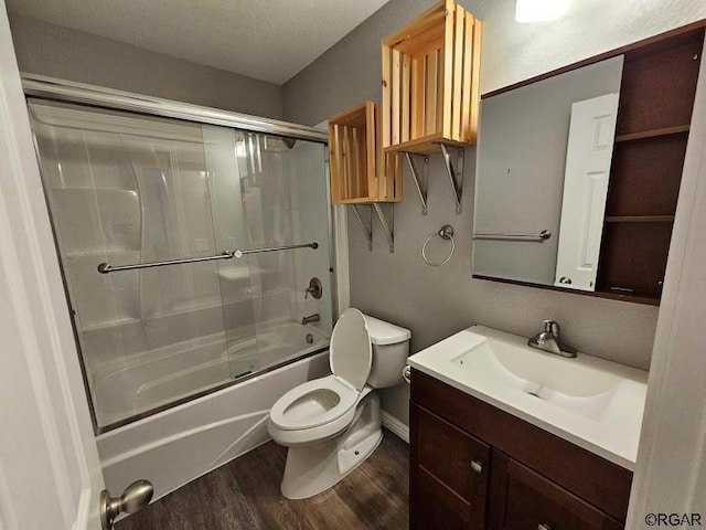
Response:
[[[325,146],[215,126],[204,126],[204,139],[207,152],[224,155],[207,157],[218,241],[231,248],[318,244],[218,265],[232,377],[325,347],[332,328]],[[320,298],[307,294],[312,278],[322,285]]]

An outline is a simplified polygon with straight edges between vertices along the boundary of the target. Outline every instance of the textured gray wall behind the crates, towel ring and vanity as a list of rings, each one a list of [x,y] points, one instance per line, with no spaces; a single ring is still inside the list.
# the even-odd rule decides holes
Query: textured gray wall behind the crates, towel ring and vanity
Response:
[[[285,84],[285,118],[317,124],[364,99],[379,100],[379,40],[432,3],[391,0]],[[581,2],[575,8],[578,11],[548,31],[547,24],[515,23],[514,0],[460,3],[483,19],[481,92],[683,25],[706,13],[706,4],[694,6],[688,0],[642,10],[628,6],[630,2],[623,7],[595,0]],[[591,9],[585,8],[587,4]],[[607,6],[610,24],[606,24]],[[473,148],[467,150],[466,174],[463,213],[456,215],[441,161],[434,157],[429,214],[422,216],[405,172],[404,201],[395,206],[394,254],[387,252],[378,224],[374,251],[368,252],[357,222],[349,213],[351,305],[408,327],[411,351],[472,324],[531,336],[538,331],[543,318],[554,318],[561,322],[567,342],[580,350],[646,369],[656,307],[471,279]],[[429,267],[421,261],[421,244],[447,222],[457,231],[456,254],[448,265]],[[436,247],[436,252],[442,251]],[[404,422],[408,421],[407,400],[406,385],[383,392],[384,409]]]

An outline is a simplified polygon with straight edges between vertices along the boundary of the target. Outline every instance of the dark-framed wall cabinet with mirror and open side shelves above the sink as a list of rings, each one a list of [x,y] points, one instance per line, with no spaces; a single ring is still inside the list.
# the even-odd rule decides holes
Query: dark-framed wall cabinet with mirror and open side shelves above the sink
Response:
[[[703,28],[481,100],[473,277],[659,304]]]

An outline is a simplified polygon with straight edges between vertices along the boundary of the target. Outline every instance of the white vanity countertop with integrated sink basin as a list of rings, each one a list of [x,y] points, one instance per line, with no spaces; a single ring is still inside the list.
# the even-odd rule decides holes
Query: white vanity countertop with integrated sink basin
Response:
[[[648,372],[473,326],[411,356],[427,374],[632,469]]]

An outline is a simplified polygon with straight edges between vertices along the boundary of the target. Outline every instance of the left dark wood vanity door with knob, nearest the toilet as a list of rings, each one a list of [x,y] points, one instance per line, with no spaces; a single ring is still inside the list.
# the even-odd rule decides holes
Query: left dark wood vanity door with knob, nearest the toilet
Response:
[[[485,528],[490,447],[410,403],[410,526]]]

